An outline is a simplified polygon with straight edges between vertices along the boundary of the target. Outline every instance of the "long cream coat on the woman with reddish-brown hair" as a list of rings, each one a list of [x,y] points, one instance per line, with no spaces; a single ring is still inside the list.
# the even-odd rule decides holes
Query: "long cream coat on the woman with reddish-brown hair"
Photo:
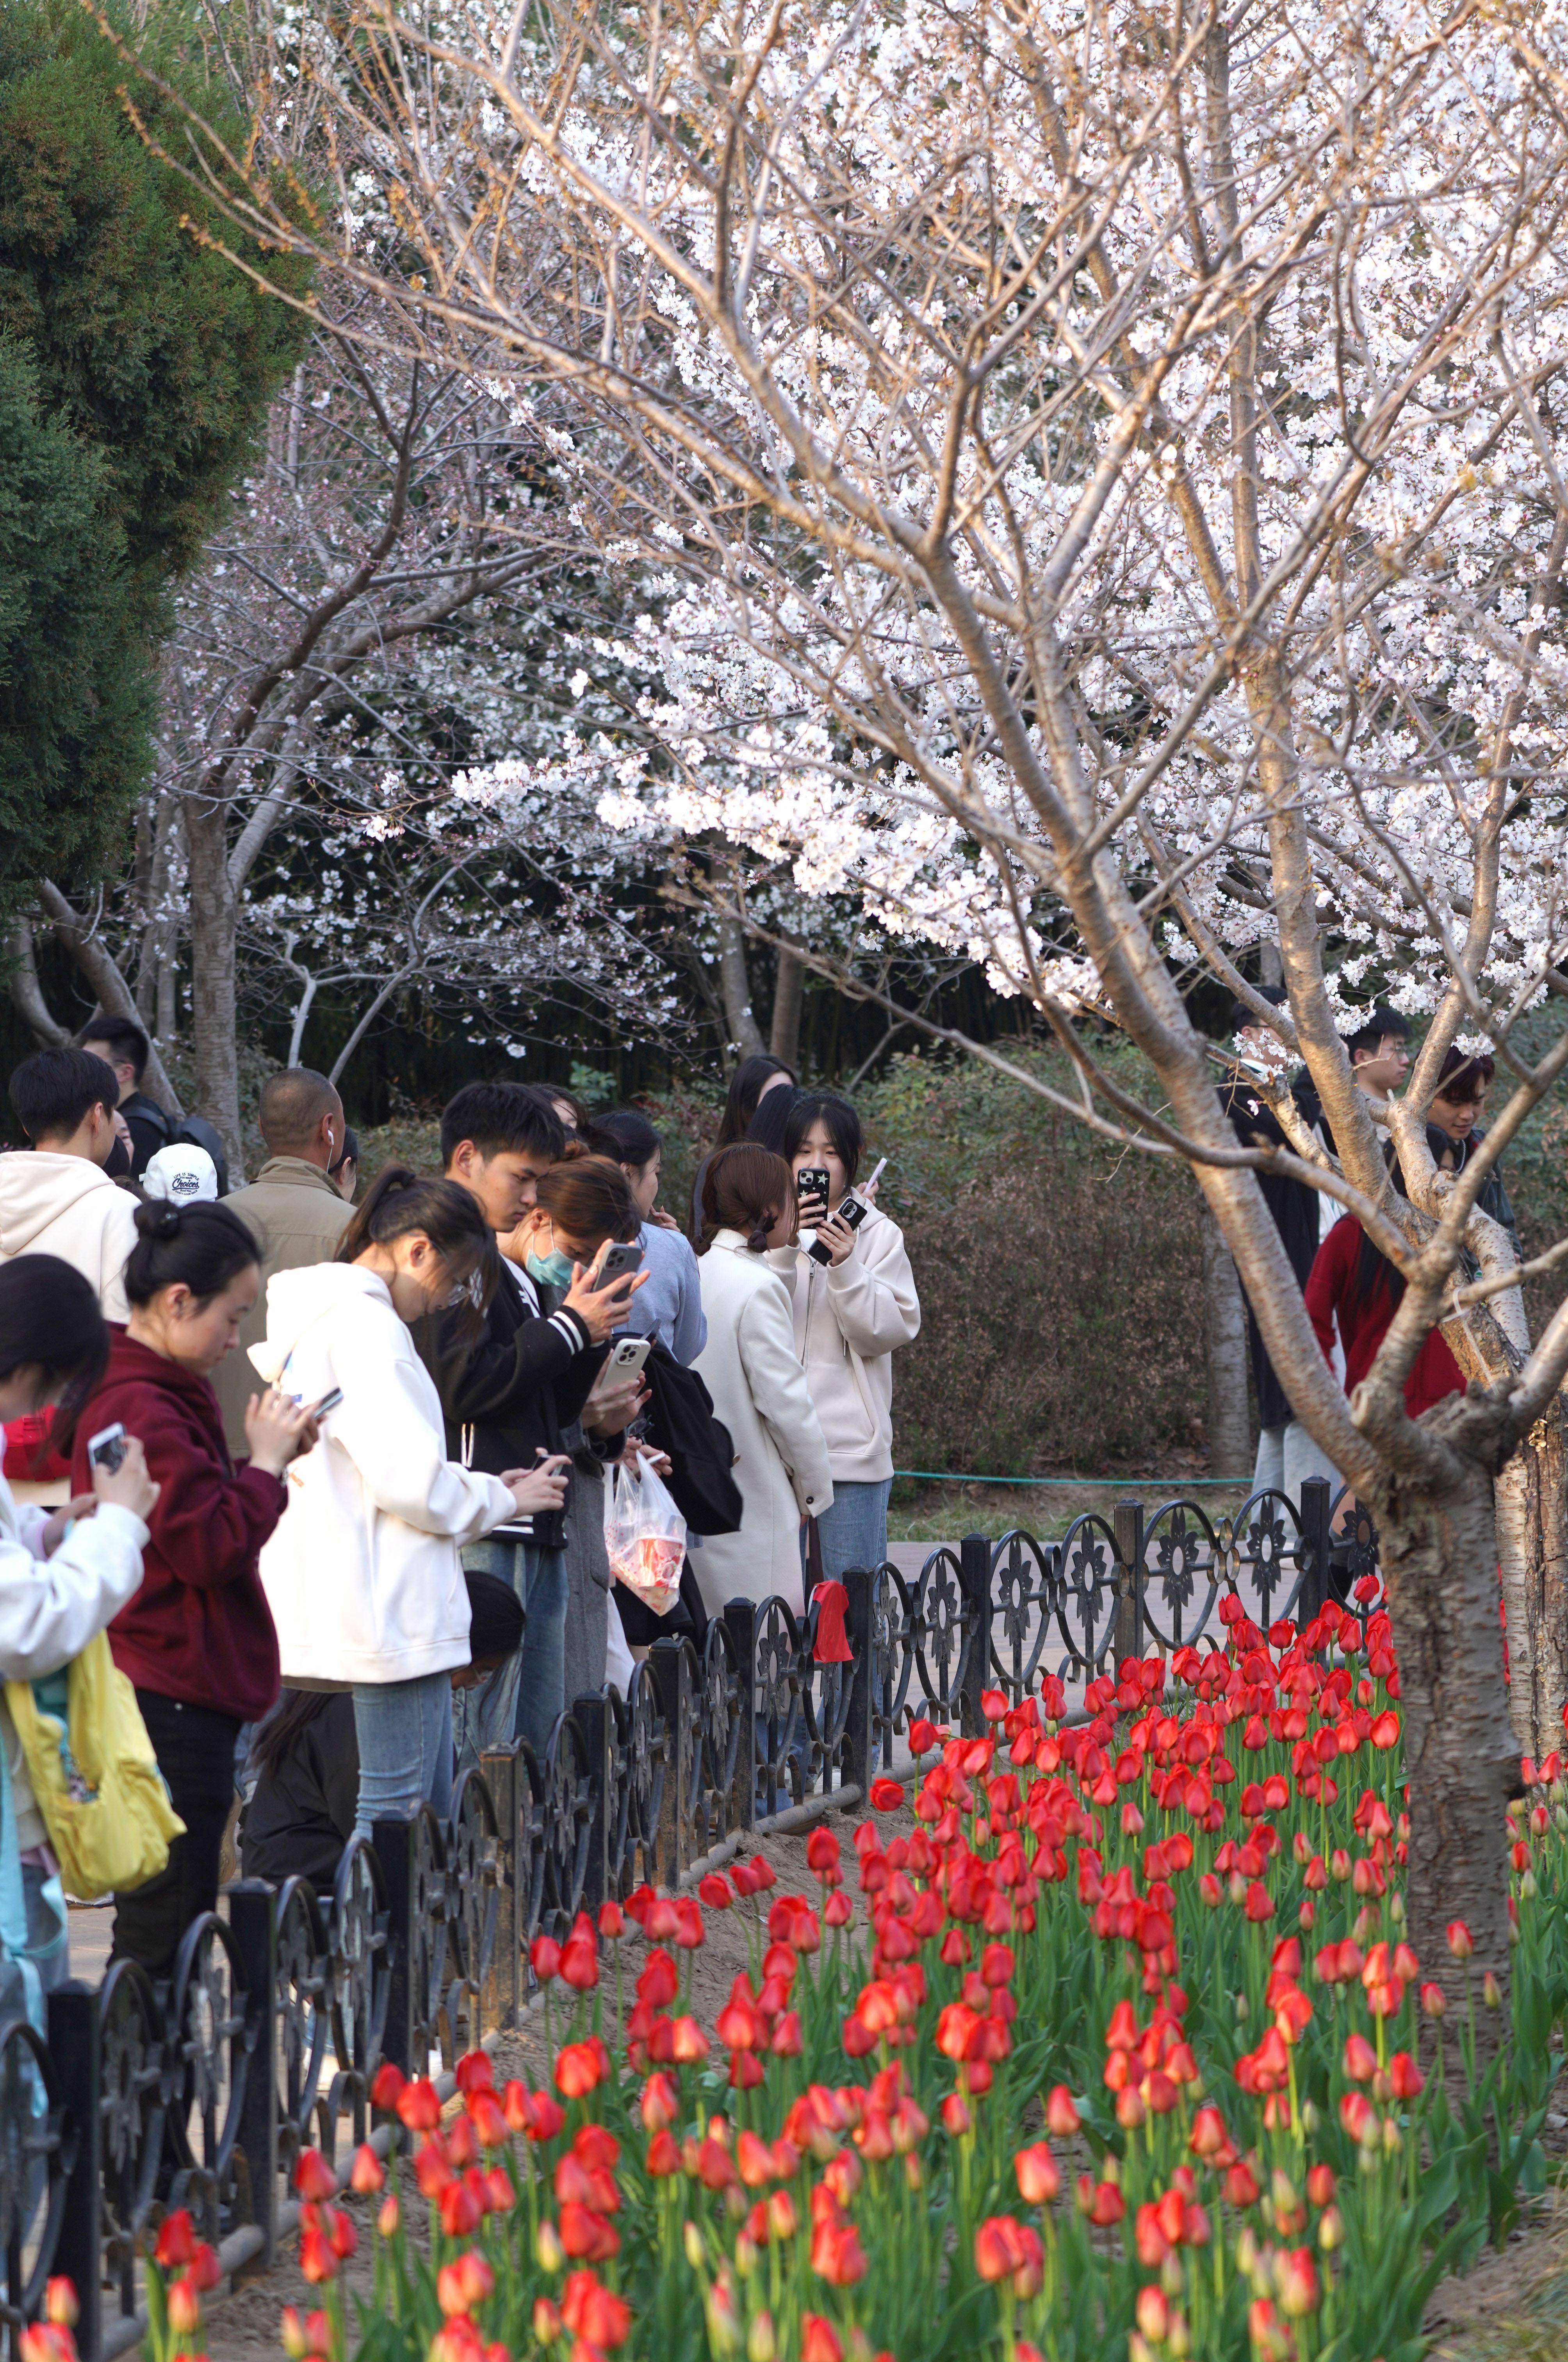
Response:
[[[727,1599],[803,1606],[801,1516],[834,1502],[827,1443],[796,1358],[789,1290],[739,1231],[720,1231],[699,1261],[708,1342],[697,1372],[734,1443],[746,1514],[739,1533],[704,1538],[692,1571],[708,1616]]]

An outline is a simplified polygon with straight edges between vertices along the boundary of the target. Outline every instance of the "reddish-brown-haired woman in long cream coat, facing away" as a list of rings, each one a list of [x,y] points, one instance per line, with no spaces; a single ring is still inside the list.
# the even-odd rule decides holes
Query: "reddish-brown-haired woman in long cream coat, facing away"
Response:
[[[697,1583],[708,1616],[727,1599],[777,1592],[796,1613],[801,1521],[834,1500],[827,1443],[796,1356],[789,1287],[770,1268],[796,1226],[789,1164],[741,1141],[704,1176],[701,1309],[708,1342],[697,1372],[734,1443],[734,1481],[746,1514],[739,1533],[704,1538]]]

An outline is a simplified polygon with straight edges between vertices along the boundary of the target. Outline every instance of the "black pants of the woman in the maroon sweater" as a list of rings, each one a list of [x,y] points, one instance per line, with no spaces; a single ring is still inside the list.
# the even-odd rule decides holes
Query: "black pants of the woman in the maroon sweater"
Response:
[[[137,1689],[137,1705],[184,1838],[170,1845],[165,1871],[130,1894],[116,1894],[111,1960],[139,1960],[149,1977],[172,1977],[179,1937],[217,1901],[241,1717],[184,1705],[156,1689]]]

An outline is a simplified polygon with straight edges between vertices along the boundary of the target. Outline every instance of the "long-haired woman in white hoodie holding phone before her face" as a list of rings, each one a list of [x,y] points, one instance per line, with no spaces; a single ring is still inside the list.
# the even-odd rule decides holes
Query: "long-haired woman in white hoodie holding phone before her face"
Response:
[[[921,1299],[900,1226],[869,1198],[860,1228],[838,1219],[860,1153],[860,1115],[850,1101],[803,1091],[789,1110],[784,1155],[796,1188],[803,1172],[827,1174],[827,1198],[801,1198],[801,1240],[770,1261],[793,1294],[796,1353],[834,1472],[834,1505],[817,1514],[829,1580],[888,1557],[893,1353],[921,1332]],[[827,1264],[810,1254],[812,1240],[827,1249]]]

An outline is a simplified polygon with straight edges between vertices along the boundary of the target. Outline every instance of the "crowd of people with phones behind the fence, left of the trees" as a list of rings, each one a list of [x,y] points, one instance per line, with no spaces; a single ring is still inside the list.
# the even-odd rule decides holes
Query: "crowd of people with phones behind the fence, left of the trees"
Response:
[[[661,1632],[878,1566],[921,1311],[855,1108],[777,1058],[732,1075],[687,1235],[638,1108],[470,1082],[439,1174],[359,1188],[335,1087],[288,1068],[229,1190],[146,1056],[102,1018],[9,1084],[0,1679],[106,1630],[182,1823],[116,1892],[113,1958],[163,1979],[239,1800],[246,1873],[331,1885],[354,1831],[446,1812],[486,1748],[543,1753]],[[664,1611],[614,1580],[605,1523],[654,1479],[687,1526]],[[43,1986],[57,1868],[0,1703],[0,1960]]]

